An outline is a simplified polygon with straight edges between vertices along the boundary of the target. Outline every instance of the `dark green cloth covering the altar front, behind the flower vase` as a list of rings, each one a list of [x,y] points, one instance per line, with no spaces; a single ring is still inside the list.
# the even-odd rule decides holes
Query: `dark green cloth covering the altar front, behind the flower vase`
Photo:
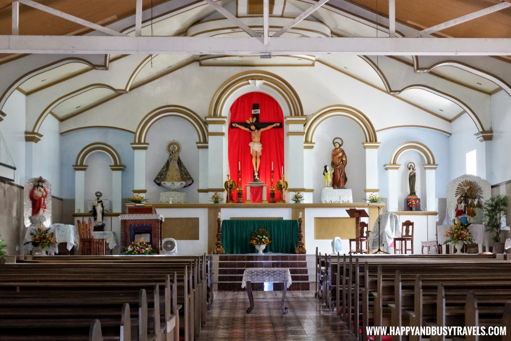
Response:
[[[264,252],[294,254],[298,242],[298,220],[223,220],[222,243],[226,254],[253,254],[258,251],[250,245],[256,229],[266,229],[271,243]]]

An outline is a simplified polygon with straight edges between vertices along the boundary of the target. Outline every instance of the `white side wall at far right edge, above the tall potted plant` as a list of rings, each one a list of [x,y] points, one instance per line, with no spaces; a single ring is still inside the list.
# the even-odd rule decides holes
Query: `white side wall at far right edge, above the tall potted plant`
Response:
[[[511,98],[501,91],[492,95],[492,173],[487,179],[498,184],[511,179],[509,146],[511,146]]]

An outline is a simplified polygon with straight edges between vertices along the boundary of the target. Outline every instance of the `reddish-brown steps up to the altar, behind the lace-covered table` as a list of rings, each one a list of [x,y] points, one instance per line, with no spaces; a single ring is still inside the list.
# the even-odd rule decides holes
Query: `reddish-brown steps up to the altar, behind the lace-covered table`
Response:
[[[243,291],[241,281],[246,268],[288,268],[293,283],[288,290],[311,290],[315,285],[315,256],[291,254],[213,255],[214,290]],[[253,283],[253,290],[265,290],[265,283]],[[266,290],[282,290],[282,283]]]

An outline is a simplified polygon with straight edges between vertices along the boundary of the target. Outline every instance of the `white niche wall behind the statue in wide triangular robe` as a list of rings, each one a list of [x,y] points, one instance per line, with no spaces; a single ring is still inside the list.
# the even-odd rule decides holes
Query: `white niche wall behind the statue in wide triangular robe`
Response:
[[[199,137],[195,128],[182,118],[166,117],[157,121],[147,134],[149,148],[146,154],[146,197],[151,202],[159,202],[161,192],[170,190],[154,183],[154,178],[169,157],[166,145],[172,140],[181,144],[179,157],[194,179],[191,186],[180,189],[187,193],[188,202],[199,202],[199,150],[196,142]]]

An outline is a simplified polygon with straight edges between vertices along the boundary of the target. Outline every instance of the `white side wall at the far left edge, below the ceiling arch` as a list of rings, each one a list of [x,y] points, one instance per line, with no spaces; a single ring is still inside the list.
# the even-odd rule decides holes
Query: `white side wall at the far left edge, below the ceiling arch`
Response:
[[[16,171],[14,183],[25,186],[25,112],[27,97],[19,91],[14,91],[2,108],[7,116],[0,122],[0,131],[4,135]]]

